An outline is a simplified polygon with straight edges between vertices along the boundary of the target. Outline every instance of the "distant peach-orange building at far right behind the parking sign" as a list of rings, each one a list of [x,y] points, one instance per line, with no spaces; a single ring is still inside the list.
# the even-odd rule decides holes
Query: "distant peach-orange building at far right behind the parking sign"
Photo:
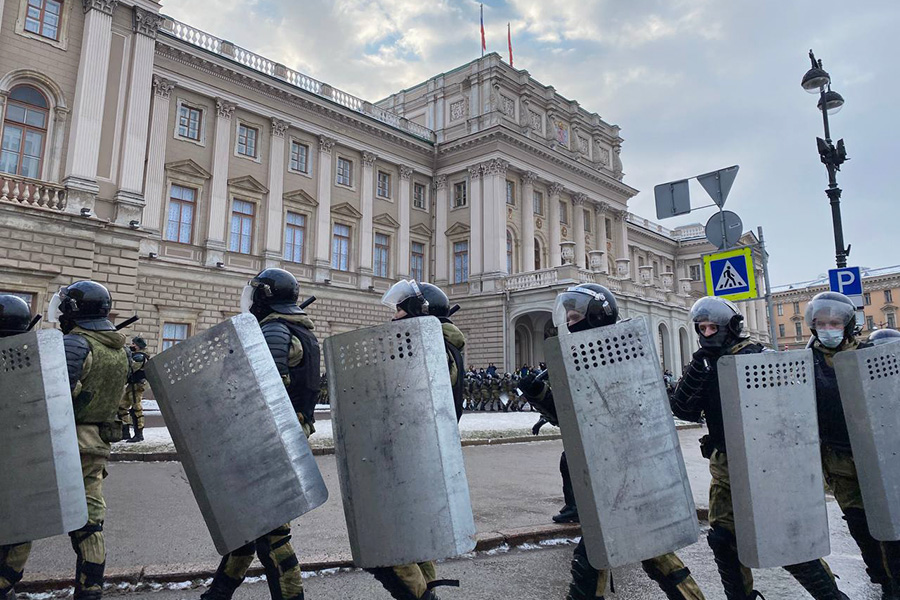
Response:
[[[897,329],[900,322],[900,265],[862,269],[863,303],[857,324],[863,336],[878,329]],[[805,348],[812,332],[806,325],[806,306],[818,293],[827,292],[828,277],[772,288],[778,345],[796,350]]]

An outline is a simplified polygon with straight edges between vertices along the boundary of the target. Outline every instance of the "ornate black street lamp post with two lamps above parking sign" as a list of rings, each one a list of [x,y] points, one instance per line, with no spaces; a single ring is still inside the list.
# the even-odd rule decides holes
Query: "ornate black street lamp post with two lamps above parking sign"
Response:
[[[837,266],[846,267],[847,257],[850,255],[850,246],[844,248],[844,230],[841,224],[841,188],[837,185],[837,172],[847,160],[847,150],[844,140],[838,140],[837,146],[831,141],[831,128],[828,125],[828,115],[835,114],[844,105],[844,98],[831,89],[831,76],[822,69],[822,61],[816,60],[813,51],[809,51],[809,60],[812,68],[803,76],[801,86],[811,94],[819,94],[818,108],[822,111],[822,120],[825,123],[825,139],[817,137],[816,143],[819,149],[819,158],[828,169],[828,189],[825,194],[831,203],[831,220],[834,225],[834,252]]]

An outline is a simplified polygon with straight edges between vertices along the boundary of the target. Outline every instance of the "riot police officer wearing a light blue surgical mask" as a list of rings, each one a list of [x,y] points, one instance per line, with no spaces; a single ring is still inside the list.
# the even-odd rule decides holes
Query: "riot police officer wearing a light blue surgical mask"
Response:
[[[834,356],[838,352],[852,352],[868,346],[856,337],[856,307],[843,294],[822,292],[810,300],[805,320],[813,333],[809,347],[816,371],[816,409],[825,482],[834,493],[847,521],[847,529],[859,546],[869,579],[881,586],[885,600],[900,599],[900,542],[879,542],[869,532],[834,371]],[[875,342],[880,337],[875,336]]]

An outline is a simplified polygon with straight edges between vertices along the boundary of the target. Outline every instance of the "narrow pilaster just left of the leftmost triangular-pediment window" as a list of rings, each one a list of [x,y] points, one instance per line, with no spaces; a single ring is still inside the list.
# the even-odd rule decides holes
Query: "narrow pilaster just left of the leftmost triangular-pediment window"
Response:
[[[147,179],[144,182],[143,227],[151,232],[162,228],[163,196],[166,191],[166,140],[169,131],[169,97],[175,84],[153,78],[153,112],[150,116],[150,146],[147,150]]]

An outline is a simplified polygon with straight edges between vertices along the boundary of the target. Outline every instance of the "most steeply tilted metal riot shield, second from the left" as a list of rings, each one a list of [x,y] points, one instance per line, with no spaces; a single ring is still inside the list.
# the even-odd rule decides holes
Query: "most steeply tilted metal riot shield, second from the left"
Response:
[[[255,317],[172,346],[146,373],[220,554],[328,498]]]

